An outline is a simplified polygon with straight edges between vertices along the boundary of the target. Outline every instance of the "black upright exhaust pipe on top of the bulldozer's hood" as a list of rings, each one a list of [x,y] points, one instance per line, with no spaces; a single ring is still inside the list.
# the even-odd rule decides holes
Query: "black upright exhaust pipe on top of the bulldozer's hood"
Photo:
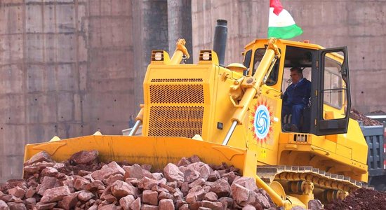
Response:
[[[225,50],[227,48],[228,35],[227,20],[217,20],[215,26],[215,37],[213,38],[213,51],[217,53],[220,66],[224,66]]]

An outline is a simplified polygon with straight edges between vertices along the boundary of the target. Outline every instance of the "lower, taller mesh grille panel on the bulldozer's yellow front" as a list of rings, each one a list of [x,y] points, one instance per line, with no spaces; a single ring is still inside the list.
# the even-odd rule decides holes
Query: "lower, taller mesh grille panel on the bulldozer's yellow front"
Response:
[[[202,136],[204,106],[152,106],[149,133],[151,137]]]

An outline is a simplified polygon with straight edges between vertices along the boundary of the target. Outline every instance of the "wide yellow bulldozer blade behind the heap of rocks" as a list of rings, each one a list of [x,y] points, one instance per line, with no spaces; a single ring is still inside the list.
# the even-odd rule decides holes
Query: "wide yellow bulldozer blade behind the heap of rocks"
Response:
[[[207,164],[221,165],[225,162],[240,169],[243,176],[256,176],[257,155],[253,151],[183,137],[92,135],[27,144],[24,161],[41,151],[46,151],[53,160],[60,162],[76,152],[91,150],[99,152],[102,162],[149,164],[153,169],[163,169],[169,162],[176,164],[182,157],[198,155]]]

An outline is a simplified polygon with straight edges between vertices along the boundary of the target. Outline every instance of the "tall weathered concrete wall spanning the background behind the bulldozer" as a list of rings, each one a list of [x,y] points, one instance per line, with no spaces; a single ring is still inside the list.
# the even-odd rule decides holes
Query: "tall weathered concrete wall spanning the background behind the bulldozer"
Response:
[[[194,62],[212,48],[217,19],[228,20],[225,64],[267,37],[269,1],[189,2],[1,0],[0,183],[21,176],[25,144],[127,128],[151,50],[189,34],[189,10]],[[281,2],[304,31],[294,40],[349,47],[354,108],[386,111],[385,1]]]

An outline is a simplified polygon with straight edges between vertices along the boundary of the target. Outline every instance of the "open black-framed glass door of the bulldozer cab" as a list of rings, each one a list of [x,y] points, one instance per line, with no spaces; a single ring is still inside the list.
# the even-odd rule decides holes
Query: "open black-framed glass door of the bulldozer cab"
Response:
[[[318,54],[314,134],[346,133],[351,109],[347,47],[323,49]]]

